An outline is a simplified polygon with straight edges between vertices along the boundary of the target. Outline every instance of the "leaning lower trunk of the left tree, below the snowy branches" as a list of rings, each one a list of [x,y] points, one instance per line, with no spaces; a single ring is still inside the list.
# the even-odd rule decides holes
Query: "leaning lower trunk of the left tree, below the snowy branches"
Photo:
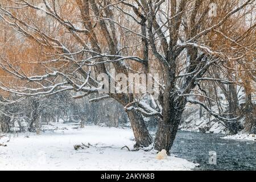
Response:
[[[131,122],[131,128],[133,129],[135,137],[134,147],[147,147],[152,143],[152,137],[147,130],[146,124],[141,113],[138,111],[132,110],[127,111],[128,117]]]

